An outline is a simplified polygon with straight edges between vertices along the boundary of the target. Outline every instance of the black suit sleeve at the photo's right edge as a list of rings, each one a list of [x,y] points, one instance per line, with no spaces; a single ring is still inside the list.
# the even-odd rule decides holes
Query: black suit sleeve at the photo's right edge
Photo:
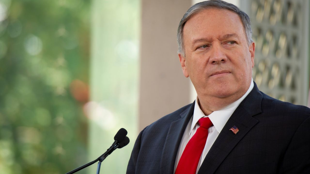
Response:
[[[279,173],[310,173],[310,117],[296,130]]]

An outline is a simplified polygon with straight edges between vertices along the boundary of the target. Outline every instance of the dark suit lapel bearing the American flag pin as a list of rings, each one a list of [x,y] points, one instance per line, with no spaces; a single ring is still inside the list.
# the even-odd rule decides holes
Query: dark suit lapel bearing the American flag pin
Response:
[[[240,103],[219,133],[198,174],[214,173],[237,143],[258,123],[258,120],[252,116],[261,113],[262,98],[263,95],[254,83],[253,90]],[[229,130],[233,126],[239,129],[237,134]]]

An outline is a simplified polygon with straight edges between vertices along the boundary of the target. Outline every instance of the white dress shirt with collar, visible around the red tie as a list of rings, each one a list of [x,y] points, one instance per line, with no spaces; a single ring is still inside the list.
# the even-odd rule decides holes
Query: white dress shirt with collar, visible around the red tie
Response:
[[[198,105],[198,96],[196,98],[196,102],[195,102],[195,108],[194,108],[194,113],[193,113],[193,117],[189,120],[187,127],[185,128],[180,146],[179,146],[179,150],[177,153],[177,158],[175,160],[175,167],[174,167],[174,172],[176,170],[176,167],[179,163],[179,160],[181,158],[181,155],[185,149],[185,146],[187,145],[189,139],[191,139],[193,137],[193,135],[196,133],[197,128],[199,128],[199,124],[197,124],[198,120],[202,117],[209,117],[211,122],[213,123],[213,126],[211,126],[208,129],[208,138],[206,141],[206,145],[205,148],[202,151],[198,166],[197,166],[197,171],[196,174],[203,162],[203,160],[205,159],[207,153],[209,152],[211,146],[213,145],[214,141],[216,140],[216,138],[219,136],[219,133],[221,132],[221,130],[223,129],[224,125],[226,124],[226,122],[228,121],[228,119],[230,118],[230,116],[232,115],[232,113],[236,110],[236,108],[239,106],[239,104],[243,101],[244,98],[246,98],[246,96],[251,92],[251,90],[254,87],[254,83],[253,83],[253,79],[251,81],[251,85],[249,87],[249,89],[246,91],[246,94],[244,94],[241,98],[239,98],[237,101],[233,102],[232,104],[228,105],[227,107],[224,107],[218,111],[213,111],[210,115],[206,116],[200,109],[199,105]]]

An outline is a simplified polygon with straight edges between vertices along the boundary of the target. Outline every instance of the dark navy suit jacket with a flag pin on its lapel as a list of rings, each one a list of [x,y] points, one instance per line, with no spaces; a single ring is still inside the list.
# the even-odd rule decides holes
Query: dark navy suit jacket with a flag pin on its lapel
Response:
[[[127,174],[173,174],[194,103],[139,134]],[[229,129],[237,126],[235,135]],[[281,102],[254,85],[225,124],[198,174],[310,173],[310,109]]]

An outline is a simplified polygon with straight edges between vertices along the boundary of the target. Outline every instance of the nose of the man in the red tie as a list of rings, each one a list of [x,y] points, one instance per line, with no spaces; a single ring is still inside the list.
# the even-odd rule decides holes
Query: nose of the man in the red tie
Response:
[[[211,46],[209,62],[213,65],[227,62],[227,56],[221,44],[216,43]]]

